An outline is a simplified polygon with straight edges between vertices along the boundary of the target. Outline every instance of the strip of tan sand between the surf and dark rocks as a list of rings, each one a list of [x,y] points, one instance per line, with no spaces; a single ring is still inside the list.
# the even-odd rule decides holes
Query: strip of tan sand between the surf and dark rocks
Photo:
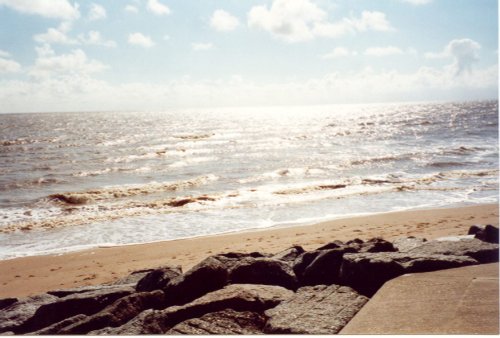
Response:
[[[391,212],[306,226],[16,258],[0,261],[0,298],[112,282],[132,271],[163,265],[180,265],[187,271],[221,252],[273,253],[292,245],[312,250],[335,239],[433,239],[465,235],[473,224],[498,226],[498,204]]]

